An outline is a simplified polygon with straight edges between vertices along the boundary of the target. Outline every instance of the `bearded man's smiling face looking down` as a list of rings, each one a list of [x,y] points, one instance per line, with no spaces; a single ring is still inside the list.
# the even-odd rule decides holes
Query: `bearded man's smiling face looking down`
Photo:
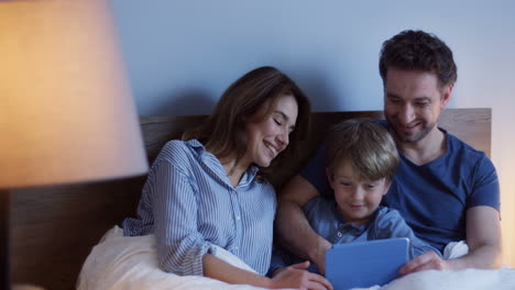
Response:
[[[417,143],[436,132],[452,86],[440,88],[435,74],[390,68],[384,86],[384,115],[402,143]]]

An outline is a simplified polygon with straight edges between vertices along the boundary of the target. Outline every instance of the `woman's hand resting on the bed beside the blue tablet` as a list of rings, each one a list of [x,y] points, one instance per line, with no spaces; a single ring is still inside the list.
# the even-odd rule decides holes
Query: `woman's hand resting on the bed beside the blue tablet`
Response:
[[[294,264],[277,270],[272,278],[271,288],[295,288],[299,290],[332,290],[331,283],[318,274],[307,271],[309,261]]]

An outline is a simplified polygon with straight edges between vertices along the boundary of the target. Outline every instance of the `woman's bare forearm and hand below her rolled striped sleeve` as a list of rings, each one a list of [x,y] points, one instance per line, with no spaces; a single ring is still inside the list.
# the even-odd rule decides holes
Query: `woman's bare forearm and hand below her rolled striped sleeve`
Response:
[[[326,278],[305,270],[308,266],[309,263],[292,265],[277,271],[277,275],[270,279],[231,266],[210,254],[204,256],[204,276],[228,283],[244,283],[269,289],[294,288],[332,290],[332,286]]]

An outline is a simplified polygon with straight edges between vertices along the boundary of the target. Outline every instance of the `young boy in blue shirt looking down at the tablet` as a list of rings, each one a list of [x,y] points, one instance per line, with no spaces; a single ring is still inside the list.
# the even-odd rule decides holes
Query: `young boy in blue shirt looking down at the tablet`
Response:
[[[429,250],[440,255],[414,234],[396,210],[380,207],[399,160],[383,125],[370,120],[341,122],[330,130],[326,146],[326,172],[335,194],[330,200],[315,198],[303,209],[320,236],[332,244],[407,237],[410,259]],[[302,261],[276,249],[269,274]],[[318,272],[315,264],[308,270]]]

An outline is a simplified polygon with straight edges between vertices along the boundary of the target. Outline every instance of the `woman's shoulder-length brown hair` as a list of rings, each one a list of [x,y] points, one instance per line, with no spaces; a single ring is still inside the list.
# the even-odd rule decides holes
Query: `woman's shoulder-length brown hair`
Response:
[[[235,154],[238,160],[246,152],[246,118],[266,101],[273,103],[284,94],[293,96],[297,101],[298,116],[289,135],[288,147],[272,160],[267,169],[261,170],[266,177],[266,172],[273,171],[282,159],[298,149],[300,138],[307,137],[310,114],[306,94],[288,76],[274,67],[256,68],[234,81],[221,96],[213,113],[200,126],[185,132],[183,140],[197,138],[218,158]]]

